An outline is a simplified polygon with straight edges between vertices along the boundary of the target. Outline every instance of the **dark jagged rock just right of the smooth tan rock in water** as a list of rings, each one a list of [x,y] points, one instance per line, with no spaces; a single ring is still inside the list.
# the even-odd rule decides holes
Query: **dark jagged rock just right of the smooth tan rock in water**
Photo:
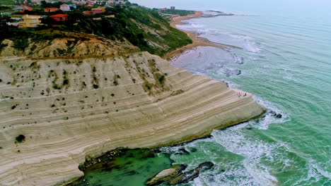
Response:
[[[197,168],[194,168],[191,171],[187,171],[185,173],[181,173],[180,175],[176,176],[175,178],[173,178],[173,180],[170,180],[168,182],[168,184],[177,185],[177,184],[190,182],[190,181],[194,180],[195,178],[197,178],[201,171],[206,171],[208,169],[211,169],[211,168],[213,168],[213,166],[214,166],[214,163],[209,162],[209,161],[201,163],[201,164],[199,164],[199,166]]]

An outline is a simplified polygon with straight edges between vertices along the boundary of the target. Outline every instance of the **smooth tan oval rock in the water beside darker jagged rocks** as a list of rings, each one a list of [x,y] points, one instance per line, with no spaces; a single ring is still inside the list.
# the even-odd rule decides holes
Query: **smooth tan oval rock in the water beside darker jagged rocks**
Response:
[[[160,173],[155,175],[153,178],[148,180],[146,182],[146,185],[158,185],[158,184],[161,184],[162,182],[168,181],[171,178],[178,175],[179,173],[181,173],[182,170],[184,170],[186,167],[187,166],[183,165],[183,164],[176,164],[174,166],[171,166],[170,168],[161,171]]]

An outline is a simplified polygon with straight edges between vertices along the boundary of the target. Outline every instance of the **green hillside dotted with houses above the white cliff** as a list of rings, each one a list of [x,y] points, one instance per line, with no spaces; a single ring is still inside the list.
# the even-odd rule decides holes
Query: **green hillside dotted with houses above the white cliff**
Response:
[[[31,38],[34,42],[59,37],[70,39],[69,33],[73,32],[129,43],[159,56],[192,42],[185,33],[170,27],[167,18],[169,11],[174,14],[192,11],[179,11],[175,7],[152,9],[127,0],[11,3],[1,11],[0,52],[8,45],[5,39],[13,42],[13,48],[17,46],[24,51],[31,44]]]

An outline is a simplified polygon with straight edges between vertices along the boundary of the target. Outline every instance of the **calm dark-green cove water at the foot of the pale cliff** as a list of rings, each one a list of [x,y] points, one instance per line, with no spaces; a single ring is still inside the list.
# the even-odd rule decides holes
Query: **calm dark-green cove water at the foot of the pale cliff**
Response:
[[[144,186],[144,182],[171,165],[165,154],[155,156],[144,149],[127,151],[109,163],[100,163],[98,168],[84,172],[83,182],[76,186]]]

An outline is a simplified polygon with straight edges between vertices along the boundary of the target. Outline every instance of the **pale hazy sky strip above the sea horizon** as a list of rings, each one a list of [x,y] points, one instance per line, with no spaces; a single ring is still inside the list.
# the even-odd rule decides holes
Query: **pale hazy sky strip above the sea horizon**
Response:
[[[331,0],[131,0],[148,7],[169,7],[236,13],[330,13]]]

